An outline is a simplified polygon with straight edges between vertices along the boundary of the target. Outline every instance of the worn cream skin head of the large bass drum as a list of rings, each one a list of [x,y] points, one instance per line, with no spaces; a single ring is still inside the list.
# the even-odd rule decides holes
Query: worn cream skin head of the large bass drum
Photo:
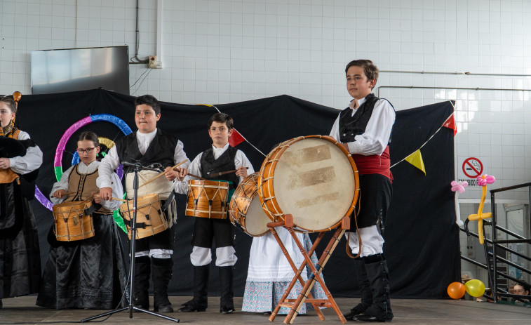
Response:
[[[354,163],[352,163],[354,164]],[[356,195],[351,159],[334,142],[303,138],[290,143],[274,170],[274,194],[283,213],[302,230],[334,227]]]

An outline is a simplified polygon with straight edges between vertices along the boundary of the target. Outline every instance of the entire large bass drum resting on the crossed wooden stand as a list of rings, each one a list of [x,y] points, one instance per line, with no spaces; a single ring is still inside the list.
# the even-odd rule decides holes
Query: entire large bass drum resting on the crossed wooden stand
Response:
[[[356,206],[359,178],[354,159],[330,136],[308,135],[269,152],[258,179],[258,197],[271,220],[293,215],[297,228],[321,232],[340,225]]]

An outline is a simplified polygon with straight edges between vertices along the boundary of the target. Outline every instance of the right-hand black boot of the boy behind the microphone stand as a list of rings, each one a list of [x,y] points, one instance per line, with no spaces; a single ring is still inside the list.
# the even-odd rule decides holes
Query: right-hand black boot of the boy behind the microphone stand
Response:
[[[171,258],[152,258],[153,260],[153,288],[154,288],[154,311],[173,312],[170,300],[168,300],[168,284],[170,284],[173,260]]]

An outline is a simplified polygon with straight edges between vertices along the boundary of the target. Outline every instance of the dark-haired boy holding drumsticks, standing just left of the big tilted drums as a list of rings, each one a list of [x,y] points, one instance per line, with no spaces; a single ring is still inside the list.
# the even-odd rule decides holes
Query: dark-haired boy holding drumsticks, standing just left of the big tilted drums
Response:
[[[241,150],[229,146],[229,137],[233,128],[232,117],[227,114],[218,113],[210,117],[208,134],[212,138],[213,145],[191,162],[190,173],[207,179],[227,180],[231,182],[231,188],[238,186],[248,174],[254,173],[246,155]],[[236,172],[212,176],[213,173],[232,170]],[[175,192],[187,193],[187,180],[190,176],[186,179],[183,177],[187,172],[184,168],[180,170],[177,175],[179,181],[175,181]],[[184,307],[181,307],[179,312],[204,312],[208,307],[208,276],[212,261],[210,248],[213,241],[216,246],[216,266],[220,270],[220,312],[222,314],[234,312],[232,270],[237,258],[234,255],[234,235],[229,218],[195,218],[194,235],[191,240],[194,248],[190,255],[191,264],[194,265],[194,298],[182,304]]]

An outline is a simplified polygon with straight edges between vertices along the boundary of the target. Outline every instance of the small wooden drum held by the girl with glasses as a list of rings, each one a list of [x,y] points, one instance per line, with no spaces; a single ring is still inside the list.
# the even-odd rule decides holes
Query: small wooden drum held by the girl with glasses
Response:
[[[90,206],[90,200],[69,201],[53,206],[55,238],[58,241],[75,241],[94,237],[92,215],[85,214]]]

